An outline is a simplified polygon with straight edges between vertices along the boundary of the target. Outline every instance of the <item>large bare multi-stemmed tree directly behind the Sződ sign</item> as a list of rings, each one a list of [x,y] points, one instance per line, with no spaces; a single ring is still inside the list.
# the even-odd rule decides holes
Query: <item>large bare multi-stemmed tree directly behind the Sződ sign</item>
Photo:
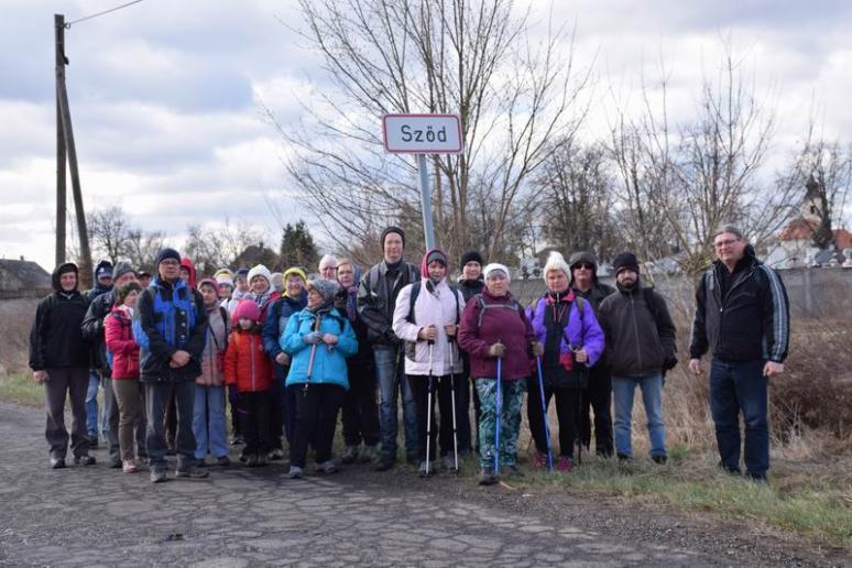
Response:
[[[551,29],[534,45],[528,13],[515,17],[507,0],[301,6],[303,36],[334,89],[317,89],[303,128],[276,125],[292,151],[287,170],[329,237],[351,250],[372,247],[389,220],[422,232],[414,161],[384,153],[381,117],[447,112],[461,117],[465,151],[432,160],[440,244],[450,254],[512,252],[507,237],[526,216],[547,141],[569,140],[586,112],[588,72],[575,73],[570,34]]]

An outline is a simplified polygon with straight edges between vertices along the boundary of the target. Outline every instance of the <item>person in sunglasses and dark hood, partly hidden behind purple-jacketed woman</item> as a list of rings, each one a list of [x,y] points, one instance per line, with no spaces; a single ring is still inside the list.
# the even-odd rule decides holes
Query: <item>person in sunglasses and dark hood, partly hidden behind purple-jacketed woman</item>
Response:
[[[613,294],[615,288],[598,280],[598,261],[591,252],[577,252],[571,255],[571,290],[586,299],[598,314],[603,298]],[[578,441],[587,448],[591,445],[592,422],[589,412],[594,412],[594,450],[598,456],[612,456],[612,376],[604,357],[589,369],[589,387],[580,391],[580,414],[577,429]]]

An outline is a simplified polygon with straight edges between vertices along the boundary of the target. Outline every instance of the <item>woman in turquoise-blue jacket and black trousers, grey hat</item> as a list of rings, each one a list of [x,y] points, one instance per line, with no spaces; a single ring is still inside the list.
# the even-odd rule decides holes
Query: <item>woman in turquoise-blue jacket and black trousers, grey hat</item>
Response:
[[[307,283],[307,307],[290,318],[281,337],[281,348],[292,359],[286,385],[296,387],[291,478],[304,473],[308,441],[316,449],[317,471],[337,471],[331,441],[349,390],[346,358],[358,352],[352,326],[334,307],[337,282],[316,278]]]

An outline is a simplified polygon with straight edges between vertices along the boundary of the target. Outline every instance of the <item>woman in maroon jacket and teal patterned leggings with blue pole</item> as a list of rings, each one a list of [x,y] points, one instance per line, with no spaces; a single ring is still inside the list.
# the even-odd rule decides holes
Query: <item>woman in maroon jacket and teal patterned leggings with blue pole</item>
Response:
[[[481,401],[479,455],[482,471],[479,483],[493,485],[498,482],[494,471],[494,454],[498,451],[503,471],[522,474],[517,469],[517,434],[525,379],[529,375],[531,354],[540,352],[543,348],[535,342],[523,307],[509,292],[509,269],[492,263],[485,266],[483,273],[485,290],[465,306],[458,341],[459,347],[470,356],[470,374]],[[494,447],[498,359],[502,359],[500,448]]]

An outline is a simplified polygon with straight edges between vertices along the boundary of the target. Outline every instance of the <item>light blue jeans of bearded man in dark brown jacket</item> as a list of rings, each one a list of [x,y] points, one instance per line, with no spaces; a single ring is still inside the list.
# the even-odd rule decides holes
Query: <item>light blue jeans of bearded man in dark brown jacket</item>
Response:
[[[652,373],[641,376],[612,375],[612,392],[615,397],[615,451],[632,458],[631,417],[633,415],[633,394],[636,385],[642,389],[642,403],[648,423],[651,457],[666,456],[666,427],[663,424],[663,374]]]

